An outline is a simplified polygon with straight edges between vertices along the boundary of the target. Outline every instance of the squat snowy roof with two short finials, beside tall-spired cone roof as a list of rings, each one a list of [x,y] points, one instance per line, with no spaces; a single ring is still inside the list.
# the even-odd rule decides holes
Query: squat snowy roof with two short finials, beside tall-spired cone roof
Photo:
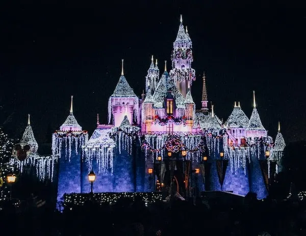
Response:
[[[241,109],[240,102],[238,102],[238,105],[235,102],[234,109],[228,116],[225,126],[228,126],[228,128],[247,128],[248,124],[249,119]]]

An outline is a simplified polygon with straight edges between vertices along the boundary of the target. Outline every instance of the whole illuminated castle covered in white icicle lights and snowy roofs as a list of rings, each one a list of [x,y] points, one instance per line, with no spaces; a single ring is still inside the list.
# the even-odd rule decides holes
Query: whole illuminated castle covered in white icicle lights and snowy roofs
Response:
[[[201,191],[268,194],[269,183],[282,170],[285,141],[278,123],[273,141],[257,111],[253,92],[250,118],[240,102],[223,122],[209,108],[203,76],[201,109],[195,109],[192,82],[192,41],[181,16],[171,52],[172,69],[165,62],[161,74],[151,58],[145,93],[137,96],[121,76],[108,102],[109,124],[99,124],[91,137],[70,113],[53,134],[52,155],[41,157],[30,124],[11,164],[32,163],[40,179],[56,179],[58,199],[64,193],[90,191],[88,173],[96,174],[94,192],[177,191],[183,196]],[[27,146],[25,159],[16,154]],[[30,146],[30,147],[29,147]],[[20,155],[19,155],[20,156]],[[56,166],[56,167],[55,167]]]

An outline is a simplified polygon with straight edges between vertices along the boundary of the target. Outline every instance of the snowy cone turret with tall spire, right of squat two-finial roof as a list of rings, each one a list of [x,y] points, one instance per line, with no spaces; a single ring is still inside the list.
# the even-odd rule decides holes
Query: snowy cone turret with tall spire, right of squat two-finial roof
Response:
[[[255,91],[253,91],[253,111],[249,120],[249,124],[245,131],[246,137],[254,139],[255,137],[266,137],[267,131],[265,130],[259,113],[256,109]]]

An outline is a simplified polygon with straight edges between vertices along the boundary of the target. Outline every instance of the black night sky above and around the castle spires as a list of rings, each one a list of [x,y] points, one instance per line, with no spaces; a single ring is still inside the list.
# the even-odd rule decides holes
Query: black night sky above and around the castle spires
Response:
[[[161,70],[162,62],[170,61],[183,14],[193,42],[197,80],[192,95],[197,108],[205,71],[208,97],[220,118],[227,119],[234,101],[240,101],[250,116],[255,90],[269,135],[275,137],[281,121],[287,141],[306,140],[302,9],[187,2],[84,6],[74,1],[1,7],[1,123],[12,137],[20,137],[31,113],[36,138],[44,142],[66,119],[73,95],[74,115],[91,133],[96,113],[100,122],[107,120],[121,58],[127,81],[140,95],[150,55],[158,58]]]

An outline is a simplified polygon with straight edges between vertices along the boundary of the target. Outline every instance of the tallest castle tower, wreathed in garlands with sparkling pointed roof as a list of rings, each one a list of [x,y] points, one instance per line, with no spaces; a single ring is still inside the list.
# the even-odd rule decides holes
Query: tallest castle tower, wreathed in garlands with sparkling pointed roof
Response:
[[[182,15],[179,32],[177,32],[176,39],[173,43],[171,61],[172,70],[169,73],[170,77],[185,98],[188,92],[188,82],[191,86],[192,81],[195,80],[195,70],[191,68],[191,63],[193,62],[192,42],[187,28],[185,32]]]

